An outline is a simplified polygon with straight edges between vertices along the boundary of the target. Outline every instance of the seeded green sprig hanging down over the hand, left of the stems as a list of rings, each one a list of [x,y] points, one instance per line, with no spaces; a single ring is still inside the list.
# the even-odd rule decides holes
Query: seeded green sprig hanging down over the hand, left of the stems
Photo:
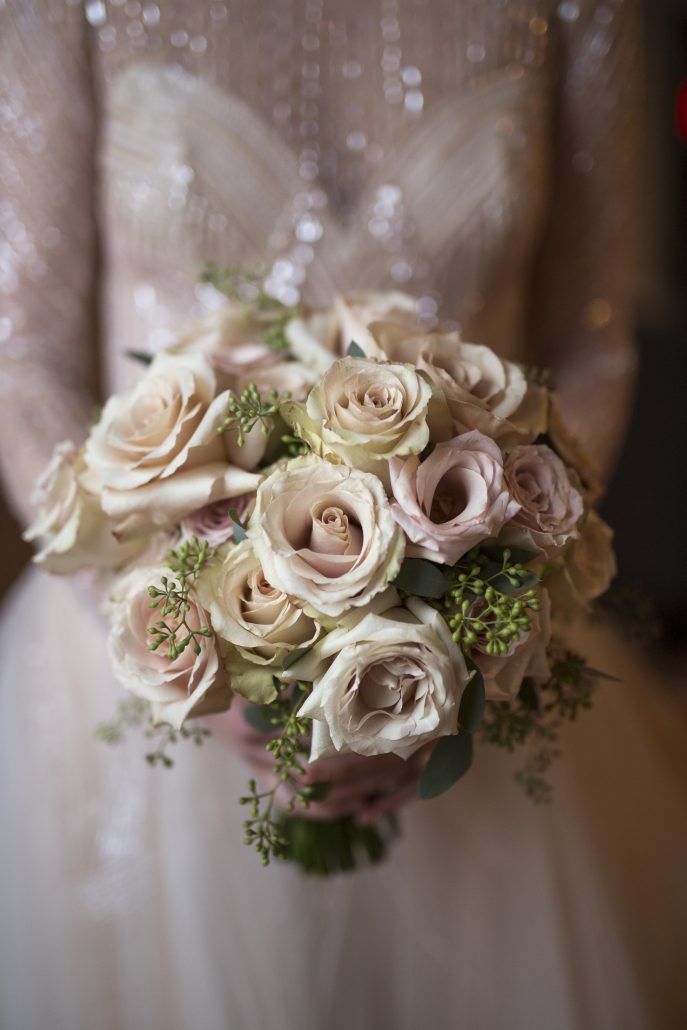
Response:
[[[305,741],[310,733],[312,720],[299,715],[310,692],[309,683],[298,683],[291,692],[282,694],[269,706],[249,709],[247,717],[264,731],[277,732],[266,748],[274,758],[276,782],[270,790],[259,790],[254,780],[248,782],[248,793],[239,799],[247,804],[250,816],[245,820],[245,844],[251,845],[261,856],[263,865],[271,858],[285,858],[289,840],[284,834],[282,816],[275,811],[277,791],[287,787],[291,793],[286,802],[286,813],[291,814],[297,804],[307,809],[311,801],[323,796],[322,784],[304,786],[299,776],[305,771],[308,747]]]

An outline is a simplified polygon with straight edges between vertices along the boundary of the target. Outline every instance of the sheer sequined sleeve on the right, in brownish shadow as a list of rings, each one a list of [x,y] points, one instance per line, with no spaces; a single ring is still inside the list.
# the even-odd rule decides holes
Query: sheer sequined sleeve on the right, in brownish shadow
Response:
[[[557,5],[554,184],[531,303],[537,360],[553,370],[571,423],[605,469],[636,366],[636,15],[631,0]]]

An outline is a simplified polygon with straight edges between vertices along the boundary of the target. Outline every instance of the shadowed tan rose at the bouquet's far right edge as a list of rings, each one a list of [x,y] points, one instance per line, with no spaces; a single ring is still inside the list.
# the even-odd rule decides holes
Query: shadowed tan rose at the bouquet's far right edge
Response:
[[[610,587],[616,572],[613,529],[590,511],[564,556],[564,565],[547,580],[555,615],[572,618]]]

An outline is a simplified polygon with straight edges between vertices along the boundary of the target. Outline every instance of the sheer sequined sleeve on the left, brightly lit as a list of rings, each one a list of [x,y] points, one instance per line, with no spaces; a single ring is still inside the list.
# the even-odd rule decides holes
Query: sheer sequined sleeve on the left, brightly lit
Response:
[[[79,4],[0,4],[0,467],[20,518],[94,404],[94,105]]]

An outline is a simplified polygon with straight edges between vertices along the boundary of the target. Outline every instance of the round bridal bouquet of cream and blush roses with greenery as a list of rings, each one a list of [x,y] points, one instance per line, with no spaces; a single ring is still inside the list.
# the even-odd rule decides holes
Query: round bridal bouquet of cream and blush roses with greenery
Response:
[[[106,571],[109,655],[135,723],[202,743],[234,695],[274,761],[246,843],[327,872],[375,861],[388,827],[303,818],[308,759],[393,754],[435,797],[479,739],[528,744],[547,800],[561,720],[602,676],[554,627],[614,573],[596,482],[545,375],[402,294],[285,309],[210,269],[213,310],[111,397],[36,490],[36,561]],[[311,778],[310,778],[311,779]],[[307,783],[307,785],[306,785]]]

